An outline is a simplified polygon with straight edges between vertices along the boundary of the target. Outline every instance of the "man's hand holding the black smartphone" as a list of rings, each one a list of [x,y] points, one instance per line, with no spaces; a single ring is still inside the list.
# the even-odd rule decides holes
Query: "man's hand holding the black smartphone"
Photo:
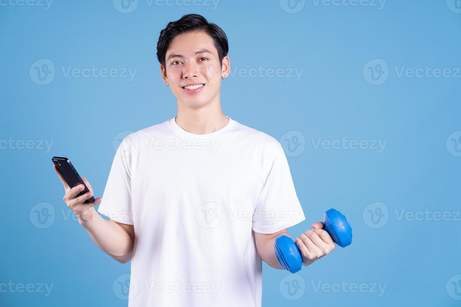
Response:
[[[77,196],[79,193],[83,191],[84,186],[80,184],[71,188],[65,182],[63,176],[59,172],[59,169],[56,167],[56,165],[53,165],[53,168],[56,174],[58,174],[62,184],[64,185],[65,195],[63,197],[63,200],[67,204],[67,207],[70,208],[75,213],[75,215],[77,215],[80,225],[83,226],[83,224],[87,221],[99,218],[100,215],[96,212],[94,206],[101,202],[101,197],[96,198],[94,203],[84,203],[87,199],[93,196],[93,189],[91,188],[91,185],[89,184],[88,180],[86,180],[85,177],[82,177],[82,180],[88,187],[89,192]]]

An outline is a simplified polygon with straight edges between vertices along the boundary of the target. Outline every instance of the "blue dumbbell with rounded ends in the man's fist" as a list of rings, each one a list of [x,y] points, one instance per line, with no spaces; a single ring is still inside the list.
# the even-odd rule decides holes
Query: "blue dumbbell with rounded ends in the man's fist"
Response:
[[[346,247],[352,243],[352,228],[346,217],[336,209],[330,209],[323,215],[325,227],[333,241],[341,247]],[[301,270],[302,259],[301,253],[290,237],[280,234],[275,238],[274,243],[275,255],[278,262],[290,273],[296,273]]]

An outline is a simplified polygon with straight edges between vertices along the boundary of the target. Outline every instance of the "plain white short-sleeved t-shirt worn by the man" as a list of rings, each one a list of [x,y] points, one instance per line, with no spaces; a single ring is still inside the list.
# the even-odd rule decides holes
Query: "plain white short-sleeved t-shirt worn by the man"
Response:
[[[134,225],[129,307],[260,307],[254,232],[305,220],[280,143],[231,118],[207,134],[172,118],[128,135],[98,211]]]

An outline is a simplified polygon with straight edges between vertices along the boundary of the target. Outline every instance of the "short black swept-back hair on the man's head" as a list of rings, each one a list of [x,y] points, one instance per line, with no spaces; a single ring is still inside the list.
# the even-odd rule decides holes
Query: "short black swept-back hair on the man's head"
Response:
[[[223,58],[229,52],[229,42],[227,35],[215,23],[209,23],[207,19],[199,14],[187,14],[177,21],[169,22],[166,28],[160,31],[159,41],[157,42],[157,58],[165,69],[166,50],[171,40],[176,36],[188,32],[205,32],[214,42],[218,50],[219,64],[223,64]]]

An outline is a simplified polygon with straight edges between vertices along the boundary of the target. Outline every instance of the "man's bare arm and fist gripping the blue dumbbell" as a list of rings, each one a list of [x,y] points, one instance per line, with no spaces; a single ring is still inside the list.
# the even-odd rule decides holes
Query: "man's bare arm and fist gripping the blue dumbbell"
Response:
[[[312,224],[312,230],[306,230],[306,232],[301,233],[299,237],[296,238],[295,242],[301,252],[303,266],[312,264],[314,261],[328,255],[335,249],[333,239],[328,232],[322,229],[323,227],[324,224],[322,222],[314,223]],[[254,238],[256,241],[256,249],[261,259],[273,268],[284,270],[283,266],[278,262],[274,252],[275,237],[281,233],[291,237],[287,230],[284,229],[270,234],[254,232]],[[291,237],[291,239],[293,238]]]

